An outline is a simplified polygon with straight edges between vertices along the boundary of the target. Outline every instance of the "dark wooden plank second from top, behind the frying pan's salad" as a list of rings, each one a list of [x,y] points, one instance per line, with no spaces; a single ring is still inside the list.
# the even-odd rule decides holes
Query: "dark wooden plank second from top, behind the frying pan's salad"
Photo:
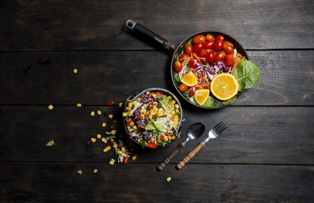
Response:
[[[314,105],[314,51],[248,55],[261,70],[260,81],[233,105]],[[104,105],[150,87],[176,93],[170,58],[163,52],[142,51],[2,53],[0,104]]]

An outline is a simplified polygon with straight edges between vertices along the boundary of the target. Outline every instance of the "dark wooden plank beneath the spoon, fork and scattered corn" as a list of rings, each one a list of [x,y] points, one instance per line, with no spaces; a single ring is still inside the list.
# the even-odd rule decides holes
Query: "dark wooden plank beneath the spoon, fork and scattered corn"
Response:
[[[90,116],[100,109],[104,115]],[[91,137],[110,130],[112,120],[121,121],[122,108],[103,106],[0,106],[0,161],[68,161],[108,162],[114,151],[104,153],[107,145]],[[178,163],[218,122],[228,128],[210,140],[191,163],[314,164],[314,107],[225,107],[195,111],[184,109],[182,134],[165,148],[135,150],[138,158],[130,162],[160,163],[186,139],[188,127],[203,122],[205,133],[199,140],[190,140],[173,159]],[[103,128],[101,124],[107,123]],[[120,131],[117,133],[124,133]],[[53,139],[56,145],[45,146]],[[156,164],[157,166],[157,164]]]

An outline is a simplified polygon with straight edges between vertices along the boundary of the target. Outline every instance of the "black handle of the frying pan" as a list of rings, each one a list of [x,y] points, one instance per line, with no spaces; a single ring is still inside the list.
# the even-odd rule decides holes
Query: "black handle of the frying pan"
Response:
[[[140,33],[150,38],[151,40],[158,42],[158,44],[163,46],[165,49],[172,51],[173,53],[176,51],[176,46],[174,44],[162,38],[161,36],[155,34],[154,32],[148,30],[147,28],[140,25],[139,23],[136,23],[135,21],[127,20],[127,22],[125,23],[125,28],[127,28],[128,30],[134,33]]]

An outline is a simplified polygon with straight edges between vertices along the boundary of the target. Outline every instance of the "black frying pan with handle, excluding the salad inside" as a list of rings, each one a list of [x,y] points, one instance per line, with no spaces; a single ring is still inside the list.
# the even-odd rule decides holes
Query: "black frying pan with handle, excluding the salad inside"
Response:
[[[195,36],[197,35],[204,35],[206,36],[207,34],[211,34],[214,37],[216,37],[217,35],[223,35],[225,40],[231,42],[233,44],[233,48],[237,49],[237,52],[242,54],[243,56],[246,57],[246,59],[248,59],[247,54],[244,50],[244,48],[241,46],[241,44],[235,40],[233,37],[221,33],[221,32],[215,32],[215,31],[205,31],[205,32],[200,32],[200,33],[196,33],[190,37],[188,37],[187,39],[185,39],[184,41],[182,41],[178,46],[172,44],[171,42],[169,42],[168,40],[160,37],[159,35],[153,33],[152,31],[148,30],[147,28],[145,28],[144,26],[132,21],[132,20],[127,20],[127,22],[125,23],[125,28],[127,28],[128,30],[132,31],[135,34],[140,34],[141,36],[145,36],[146,38],[148,38],[149,40],[151,40],[152,42],[155,42],[156,44],[162,46],[164,49],[169,50],[173,53],[172,56],[172,62],[171,62],[171,78],[172,78],[172,82],[175,85],[178,93],[186,100],[188,101],[190,104],[199,107],[199,108],[204,108],[204,109],[216,109],[216,108],[221,108],[227,105],[222,104],[221,106],[218,107],[203,107],[203,106],[199,106],[197,104],[194,104],[193,102],[191,102],[190,100],[188,100],[186,98],[186,96],[184,95],[184,93],[182,93],[179,90],[179,83],[177,82],[177,80],[175,79],[175,69],[174,69],[174,64],[177,61],[177,54],[178,56],[181,54],[182,50],[184,49],[184,46],[191,40],[193,39]],[[245,90],[245,89],[244,89]],[[236,95],[237,98],[239,98],[242,93],[244,92],[244,90],[242,92],[238,92],[238,94]]]

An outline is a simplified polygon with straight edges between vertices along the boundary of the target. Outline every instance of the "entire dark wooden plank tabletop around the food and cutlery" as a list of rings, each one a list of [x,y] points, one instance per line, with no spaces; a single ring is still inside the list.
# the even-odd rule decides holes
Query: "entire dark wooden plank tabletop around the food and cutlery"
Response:
[[[201,31],[229,34],[261,75],[224,108],[181,100],[179,140],[110,165],[108,144],[86,142],[122,119],[118,104],[150,87],[176,92],[171,55],[124,30],[127,19],[174,44]],[[0,201],[313,202],[313,36],[310,0],[1,1]],[[189,125],[208,131],[220,121],[228,128],[183,169],[176,164],[199,141],[156,170]]]

